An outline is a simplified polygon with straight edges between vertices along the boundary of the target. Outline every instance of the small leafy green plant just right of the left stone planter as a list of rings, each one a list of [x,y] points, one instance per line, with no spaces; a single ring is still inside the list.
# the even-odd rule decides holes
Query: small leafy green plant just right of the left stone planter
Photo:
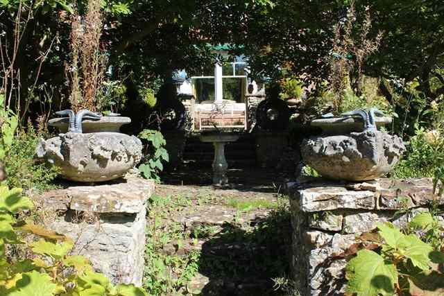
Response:
[[[143,130],[139,138],[148,141],[144,149],[144,163],[139,166],[139,171],[146,179],[160,181],[159,173],[164,169],[162,161],[169,162],[167,149],[164,148],[167,141],[157,130]]]

